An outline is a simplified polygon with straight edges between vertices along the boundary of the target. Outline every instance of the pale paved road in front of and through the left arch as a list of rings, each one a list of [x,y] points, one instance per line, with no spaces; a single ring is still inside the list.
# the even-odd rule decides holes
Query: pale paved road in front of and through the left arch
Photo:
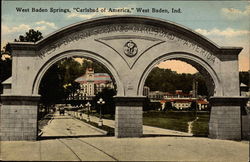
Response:
[[[118,139],[70,116],[55,116],[43,130],[46,138],[40,141],[2,141],[1,159],[246,162],[249,156],[248,142],[170,136]]]

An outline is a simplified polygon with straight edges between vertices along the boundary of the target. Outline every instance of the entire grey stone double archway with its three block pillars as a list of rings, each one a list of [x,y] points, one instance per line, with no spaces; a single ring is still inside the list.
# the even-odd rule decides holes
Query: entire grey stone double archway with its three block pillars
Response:
[[[196,32],[165,20],[112,16],[73,24],[39,42],[11,43],[12,82],[1,96],[2,140],[36,139],[38,87],[56,60],[79,55],[101,62],[117,83],[117,137],[142,135],[142,87],[163,59],[194,65],[211,85],[210,137],[240,139],[238,54],[240,47],[219,47]],[[18,122],[17,122],[18,121]]]

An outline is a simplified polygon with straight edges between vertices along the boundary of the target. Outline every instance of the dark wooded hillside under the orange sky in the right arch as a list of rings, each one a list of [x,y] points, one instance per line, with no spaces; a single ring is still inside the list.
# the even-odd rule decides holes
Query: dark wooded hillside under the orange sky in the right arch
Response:
[[[204,77],[199,74],[178,74],[170,69],[161,69],[155,67],[147,77],[145,86],[151,91],[175,92],[175,90],[183,90],[189,93],[192,90],[193,80],[198,81],[198,94],[207,95],[207,87]]]

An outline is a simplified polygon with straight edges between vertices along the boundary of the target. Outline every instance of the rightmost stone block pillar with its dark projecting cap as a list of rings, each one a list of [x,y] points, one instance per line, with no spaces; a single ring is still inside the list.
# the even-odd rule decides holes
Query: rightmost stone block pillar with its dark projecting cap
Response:
[[[241,106],[246,97],[211,97],[209,137],[217,139],[241,139]]]

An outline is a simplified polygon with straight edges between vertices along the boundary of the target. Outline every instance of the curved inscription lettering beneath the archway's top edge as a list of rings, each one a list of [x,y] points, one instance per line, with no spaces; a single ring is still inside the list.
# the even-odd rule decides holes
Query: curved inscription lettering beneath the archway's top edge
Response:
[[[46,55],[51,54],[52,52],[56,51],[56,49],[59,49],[62,45],[67,45],[69,43],[88,38],[92,35],[98,35],[102,33],[111,33],[111,32],[141,32],[145,34],[149,34],[152,36],[160,36],[162,38],[168,39],[170,41],[177,41],[183,46],[187,46],[193,51],[200,54],[202,57],[207,59],[209,62],[214,63],[215,62],[215,56],[212,55],[209,51],[203,49],[201,46],[199,46],[197,43],[192,43],[190,40],[185,39],[183,36],[180,36],[172,31],[169,31],[167,29],[149,26],[149,25],[135,25],[135,24],[126,24],[126,25],[117,25],[117,24],[111,24],[111,25],[104,25],[101,27],[94,27],[91,29],[85,29],[77,33],[73,33],[69,36],[65,36],[59,41],[55,42],[54,44],[47,46],[45,49],[42,49],[39,53],[39,57],[43,58]]]

